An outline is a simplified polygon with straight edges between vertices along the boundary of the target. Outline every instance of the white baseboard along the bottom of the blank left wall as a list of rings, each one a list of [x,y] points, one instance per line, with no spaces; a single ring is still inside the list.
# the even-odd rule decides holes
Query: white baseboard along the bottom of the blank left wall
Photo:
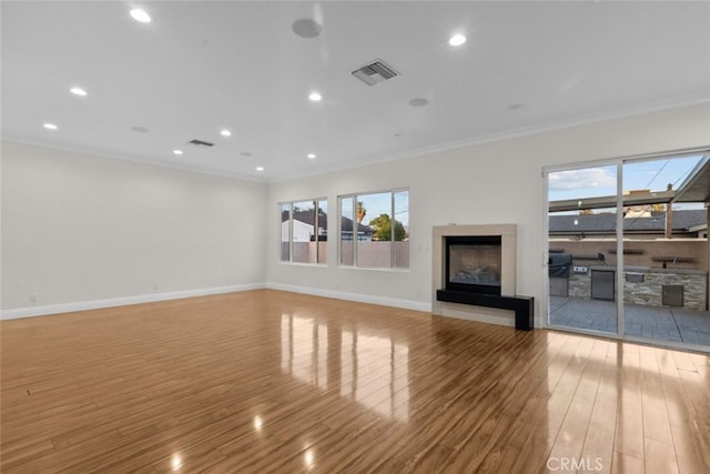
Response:
[[[210,294],[233,293],[240,291],[262,290],[265,283],[243,285],[216,286],[196,290],[172,291],[165,293],[139,294],[133,296],[110,297],[106,300],[79,301],[74,303],[49,304],[44,306],[17,307],[2,310],[0,320],[16,320],[19,317],[47,316],[50,314],[71,313],[74,311],[99,310],[102,307],[125,306],[128,304],[153,303],[156,301],[181,300],[183,297],[206,296]]]

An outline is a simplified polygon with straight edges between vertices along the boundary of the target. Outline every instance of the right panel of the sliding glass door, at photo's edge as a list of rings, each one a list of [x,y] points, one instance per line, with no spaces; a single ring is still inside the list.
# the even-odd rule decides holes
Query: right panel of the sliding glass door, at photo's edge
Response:
[[[706,190],[710,188],[709,169],[703,154],[623,163],[623,316],[629,337],[710,346],[708,211],[693,202],[701,186],[692,184],[706,180]]]

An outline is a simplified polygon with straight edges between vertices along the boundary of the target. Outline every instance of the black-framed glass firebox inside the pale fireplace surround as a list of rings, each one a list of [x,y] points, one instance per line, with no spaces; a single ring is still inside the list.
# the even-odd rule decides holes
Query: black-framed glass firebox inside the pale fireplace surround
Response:
[[[500,294],[500,235],[449,235],[444,240],[446,290]]]

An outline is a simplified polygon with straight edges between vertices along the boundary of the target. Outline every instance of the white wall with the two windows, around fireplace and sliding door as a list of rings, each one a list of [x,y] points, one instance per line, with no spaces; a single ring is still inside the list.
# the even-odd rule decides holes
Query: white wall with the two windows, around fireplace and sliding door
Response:
[[[267,269],[274,288],[427,310],[430,305],[432,226],[518,224],[519,294],[544,295],[542,168],[708,145],[710,104],[669,110],[565,130],[470,145],[404,161],[273,183],[268,189]],[[338,268],[337,238],[328,265],[278,263],[278,202],[328,198],[328,229],[336,229],[337,195],[409,188],[409,271]]]

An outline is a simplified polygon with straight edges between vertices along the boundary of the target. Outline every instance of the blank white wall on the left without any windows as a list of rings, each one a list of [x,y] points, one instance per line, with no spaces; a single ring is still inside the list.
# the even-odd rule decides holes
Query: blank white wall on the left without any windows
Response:
[[[9,142],[1,167],[3,317],[265,282],[266,184]]]

